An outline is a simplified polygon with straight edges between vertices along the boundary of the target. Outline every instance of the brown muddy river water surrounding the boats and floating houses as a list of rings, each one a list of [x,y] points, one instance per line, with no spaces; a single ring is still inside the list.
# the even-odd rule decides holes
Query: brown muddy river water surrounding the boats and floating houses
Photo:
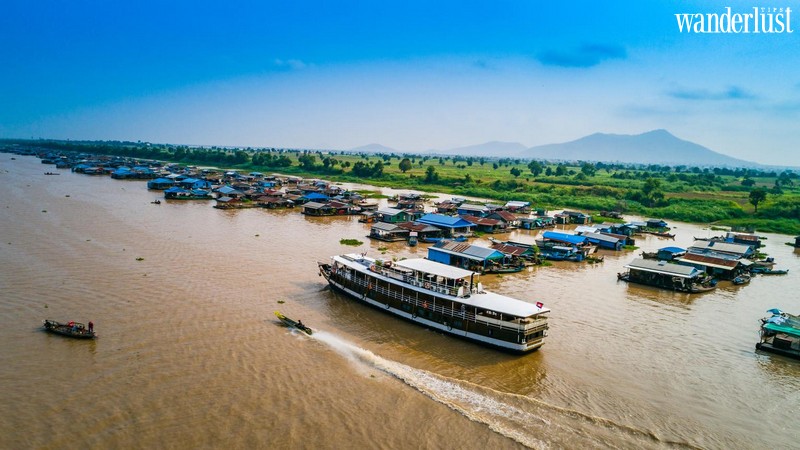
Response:
[[[545,346],[515,356],[326,288],[330,255],[426,254],[370,242],[355,217],[153,205],[144,182],[15,158],[0,154],[0,448],[800,446],[800,363],[754,350],[767,309],[800,312],[789,236],[766,235],[788,275],[699,295],[616,277],[642,250],[717,234],[683,223],[600,264],[485,276],[552,309]],[[99,337],[46,334],[46,318]]]

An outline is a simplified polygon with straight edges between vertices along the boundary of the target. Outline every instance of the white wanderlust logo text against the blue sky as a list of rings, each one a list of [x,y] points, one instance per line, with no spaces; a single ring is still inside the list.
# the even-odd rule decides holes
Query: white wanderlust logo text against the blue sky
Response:
[[[723,13],[684,13],[675,14],[675,18],[681,33],[794,33],[792,8],[754,7],[745,13],[734,13],[728,6]]]

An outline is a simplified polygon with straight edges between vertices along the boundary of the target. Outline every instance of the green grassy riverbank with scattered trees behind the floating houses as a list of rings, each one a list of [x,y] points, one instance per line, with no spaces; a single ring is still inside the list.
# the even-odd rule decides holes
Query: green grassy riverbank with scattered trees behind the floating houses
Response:
[[[800,176],[792,171],[557,164],[521,159],[363,155],[285,149],[196,149],[140,143],[3,141],[41,149],[158,159],[337,182],[445,192],[547,209],[619,211],[684,222],[800,234]]]

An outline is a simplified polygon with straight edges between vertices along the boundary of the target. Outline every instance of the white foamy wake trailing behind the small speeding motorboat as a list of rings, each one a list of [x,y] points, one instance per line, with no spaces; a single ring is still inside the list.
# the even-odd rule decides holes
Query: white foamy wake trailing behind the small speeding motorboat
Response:
[[[415,369],[382,358],[331,333],[319,331],[312,337],[332,347],[364,375],[370,370],[380,370],[529,448],[696,448],[684,442],[662,440],[654,433],[602,417]]]

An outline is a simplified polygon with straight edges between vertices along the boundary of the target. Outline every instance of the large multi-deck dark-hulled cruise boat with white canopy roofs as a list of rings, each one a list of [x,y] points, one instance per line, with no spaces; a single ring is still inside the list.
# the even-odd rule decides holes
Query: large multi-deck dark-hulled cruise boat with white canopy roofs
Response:
[[[391,262],[363,254],[334,256],[318,266],[336,290],[419,325],[519,353],[544,344],[550,310],[484,290],[477,272],[422,258]]]

